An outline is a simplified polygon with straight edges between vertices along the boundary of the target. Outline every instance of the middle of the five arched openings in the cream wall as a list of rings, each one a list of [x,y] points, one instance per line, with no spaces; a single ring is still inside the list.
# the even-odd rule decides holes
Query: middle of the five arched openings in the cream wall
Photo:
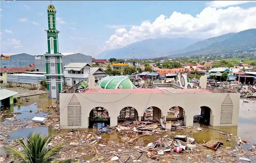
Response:
[[[163,112],[161,109],[155,106],[151,106],[144,111],[142,120],[157,121],[163,118]]]

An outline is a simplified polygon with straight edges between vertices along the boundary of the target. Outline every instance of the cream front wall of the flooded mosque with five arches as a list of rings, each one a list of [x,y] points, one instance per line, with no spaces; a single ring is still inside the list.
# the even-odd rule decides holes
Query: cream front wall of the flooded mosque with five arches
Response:
[[[212,126],[237,126],[239,114],[240,93],[60,93],[60,125],[61,128],[75,128],[68,126],[67,107],[72,96],[81,105],[81,126],[76,128],[87,128],[89,125],[90,111],[95,107],[103,107],[108,110],[110,125],[117,125],[117,117],[121,109],[133,107],[138,111],[139,119],[144,110],[149,107],[157,107],[162,110],[164,117],[168,110],[174,106],[184,109],[184,121],[186,126],[193,126],[193,116],[199,107],[209,107],[210,125]],[[232,101],[231,124],[221,124],[221,105],[225,98]],[[185,100],[184,100],[185,99]],[[74,102],[74,101],[73,101]]]

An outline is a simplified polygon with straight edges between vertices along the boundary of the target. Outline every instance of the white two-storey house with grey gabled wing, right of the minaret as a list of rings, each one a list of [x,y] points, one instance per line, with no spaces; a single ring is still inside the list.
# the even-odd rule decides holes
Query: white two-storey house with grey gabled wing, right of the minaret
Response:
[[[98,80],[108,76],[100,67],[92,67],[88,63],[67,63],[63,67],[67,86],[72,86],[81,80],[87,82],[89,74],[92,74]]]

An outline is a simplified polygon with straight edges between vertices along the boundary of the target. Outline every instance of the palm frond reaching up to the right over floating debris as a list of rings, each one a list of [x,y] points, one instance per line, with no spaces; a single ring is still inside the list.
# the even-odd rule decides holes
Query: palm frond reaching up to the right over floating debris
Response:
[[[57,144],[56,146],[50,148],[44,155],[42,162],[48,163],[55,160],[58,157],[58,154],[62,150],[62,148],[62,144]]]

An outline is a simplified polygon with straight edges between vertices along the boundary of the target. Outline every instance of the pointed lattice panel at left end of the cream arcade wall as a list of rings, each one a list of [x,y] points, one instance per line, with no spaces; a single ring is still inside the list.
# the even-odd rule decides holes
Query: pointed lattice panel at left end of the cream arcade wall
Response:
[[[67,106],[67,124],[68,126],[81,126],[82,124],[82,107],[75,94]]]

